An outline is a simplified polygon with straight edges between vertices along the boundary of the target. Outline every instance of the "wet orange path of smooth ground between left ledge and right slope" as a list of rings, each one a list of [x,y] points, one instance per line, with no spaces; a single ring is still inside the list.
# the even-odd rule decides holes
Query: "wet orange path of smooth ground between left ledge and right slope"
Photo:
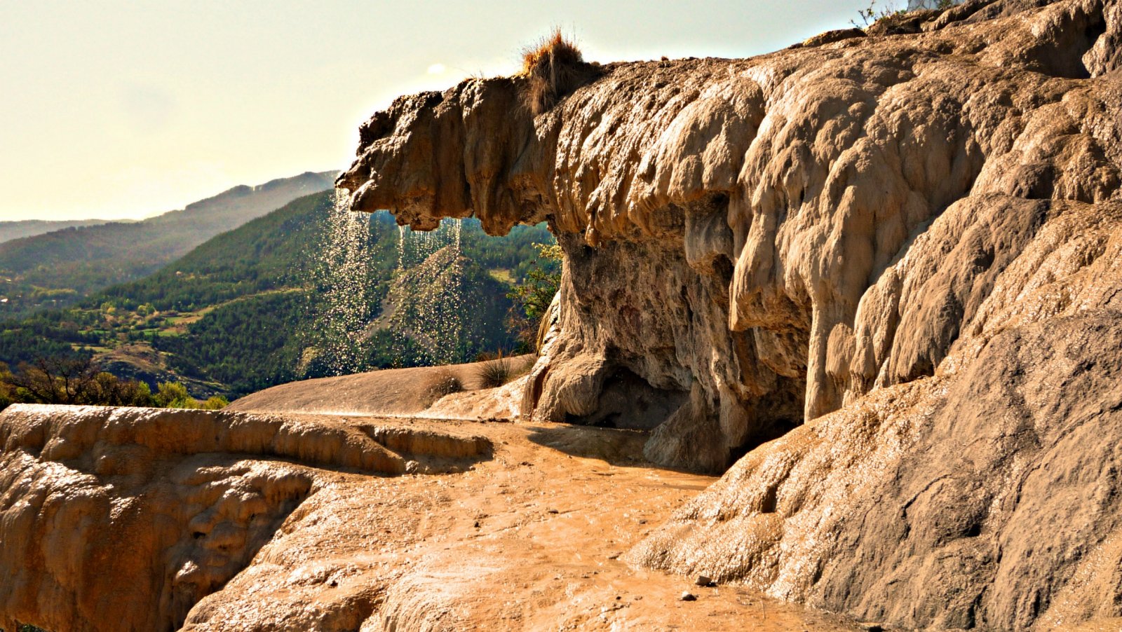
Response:
[[[650,467],[636,458],[640,433],[343,419],[482,435],[495,450],[452,464],[460,473],[328,474],[250,566],[195,606],[185,630],[861,629],[620,561],[714,481]],[[697,600],[681,601],[687,591]]]

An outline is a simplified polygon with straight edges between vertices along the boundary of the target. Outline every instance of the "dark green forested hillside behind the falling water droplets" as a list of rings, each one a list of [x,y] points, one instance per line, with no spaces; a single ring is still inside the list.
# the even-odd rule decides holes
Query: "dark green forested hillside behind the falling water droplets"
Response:
[[[182,381],[195,397],[238,397],[341,370],[425,362],[410,341],[388,332],[324,326],[325,285],[338,282],[330,271],[324,276],[320,255],[332,239],[331,212],[330,192],[301,197],[146,278],[71,308],[8,319],[0,324],[0,361],[15,368],[43,356],[92,355],[110,372],[153,387]],[[364,219],[369,233],[356,291],[366,303],[358,318],[373,322],[397,275],[401,233],[387,213]],[[534,268],[535,244],[552,236],[544,226],[519,226],[488,238],[478,221],[466,220],[460,241],[465,291],[487,314],[463,352],[511,348],[506,294]],[[349,361],[340,363],[340,354]]]

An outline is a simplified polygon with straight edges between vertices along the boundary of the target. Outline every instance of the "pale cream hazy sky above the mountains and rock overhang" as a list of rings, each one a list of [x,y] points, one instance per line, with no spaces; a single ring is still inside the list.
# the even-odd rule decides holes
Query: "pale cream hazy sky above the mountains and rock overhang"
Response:
[[[401,94],[514,73],[553,28],[587,61],[746,57],[867,0],[0,0],[0,221],[139,219],[346,168]]]

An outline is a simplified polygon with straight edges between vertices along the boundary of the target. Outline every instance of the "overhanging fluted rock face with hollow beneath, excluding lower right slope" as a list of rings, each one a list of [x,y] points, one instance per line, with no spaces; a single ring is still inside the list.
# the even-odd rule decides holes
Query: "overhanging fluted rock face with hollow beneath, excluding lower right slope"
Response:
[[[525,410],[597,417],[623,375],[674,410],[618,420],[662,422],[650,457],[721,470],[1004,326],[1055,202],[1122,198],[1120,7],[1036,4],[604,66],[537,117],[526,80],[470,80],[375,114],[339,185],[419,229],[548,221],[560,332]]]

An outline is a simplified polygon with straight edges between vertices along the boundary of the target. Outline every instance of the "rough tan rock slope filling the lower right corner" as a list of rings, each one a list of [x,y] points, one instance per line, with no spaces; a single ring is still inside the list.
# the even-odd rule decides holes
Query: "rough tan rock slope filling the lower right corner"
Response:
[[[1122,615],[1122,318],[996,334],[738,462],[629,559],[907,628]]]

